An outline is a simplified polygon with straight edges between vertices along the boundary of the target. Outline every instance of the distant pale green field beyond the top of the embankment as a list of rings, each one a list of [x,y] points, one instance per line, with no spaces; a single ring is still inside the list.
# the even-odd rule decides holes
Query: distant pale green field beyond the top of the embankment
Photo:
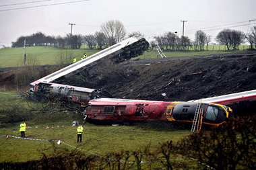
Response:
[[[209,54],[223,54],[223,53],[230,53],[230,52],[238,52],[241,50],[246,50],[249,46],[240,46],[240,50],[236,51],[226,51],[224,46],[209,46],[208,50],[202,52],[167,52],[164,51],[164,54],[167,57],[172,56],[197,56],[197,55],[209,55]],[[205,48],[206,49],[206,48]],[[49,46],[29,46],[26,47],[26,58],[30,60],[30,58],[36,58],[37,65],[57,65],[58,64],[58,57],[60,56],[61,52],[68,52],[71,54],[72,58],[75,56],[77,60],[80,60],[80,56],[86,52],[88,56],[98,52],[100,50],[89,50],[89,49],[76,49],[76,50],[61,50],[54,47]],[[138,58],[156,58],[158,56],[158,52],[156,50],[149,52],[144,52],[142,56]],[[3,48],[0,49],[0,68],[3,67],[21,67],[24,65],[24,49],[23,48]],[[133,58],[134,59],[134,58]],[[70,60],[71,63],[71,60]]]

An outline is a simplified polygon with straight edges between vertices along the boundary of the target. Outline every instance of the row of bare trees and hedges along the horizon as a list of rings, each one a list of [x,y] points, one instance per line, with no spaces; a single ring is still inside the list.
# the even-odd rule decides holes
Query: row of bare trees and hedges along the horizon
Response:
[[[95,34],[88,35],[72,35],[67,34],[61,36],[46,36],[42,32],[37,32],[30,36],[20,36],[16,42],[12,42],[12,47],[24,46],[55,46],[56,48],[71,48],[79,49],[82,44],[87,44],[89,48],[106,48],[120,42],[126,37],[134,36],[135,34],[142,35],[141,32],[131,32],[127,34],[125,26],[118,20],[110,20],[100,26],[100,31]],[[244,42],[249,42],[250,48],[256,48],[256,26],[250,29],[250,32],[245,34],[240,30],[224,29],[218,33],[215,38],[216,42],[226,46],[228,50],[238,50],[238,46]],[[194,40],[187,36],[177,36],[173,32],[166,32],[162,36],[154,36],[150,42],[152,49],[157,45],[163,50],[208,50],[208,45],[212,41],[210,35],[205,34],[202,30],[195,32]]]

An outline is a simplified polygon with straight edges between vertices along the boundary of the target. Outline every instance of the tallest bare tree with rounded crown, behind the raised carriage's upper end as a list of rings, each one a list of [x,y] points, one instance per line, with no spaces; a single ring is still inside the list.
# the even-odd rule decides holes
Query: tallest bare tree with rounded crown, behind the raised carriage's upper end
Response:
[[[126,35],[125,26],[123,26],[123,23],[118,20],[110,20],[102,24],[100,32],[106,36],[108,45],[120,42]]]

